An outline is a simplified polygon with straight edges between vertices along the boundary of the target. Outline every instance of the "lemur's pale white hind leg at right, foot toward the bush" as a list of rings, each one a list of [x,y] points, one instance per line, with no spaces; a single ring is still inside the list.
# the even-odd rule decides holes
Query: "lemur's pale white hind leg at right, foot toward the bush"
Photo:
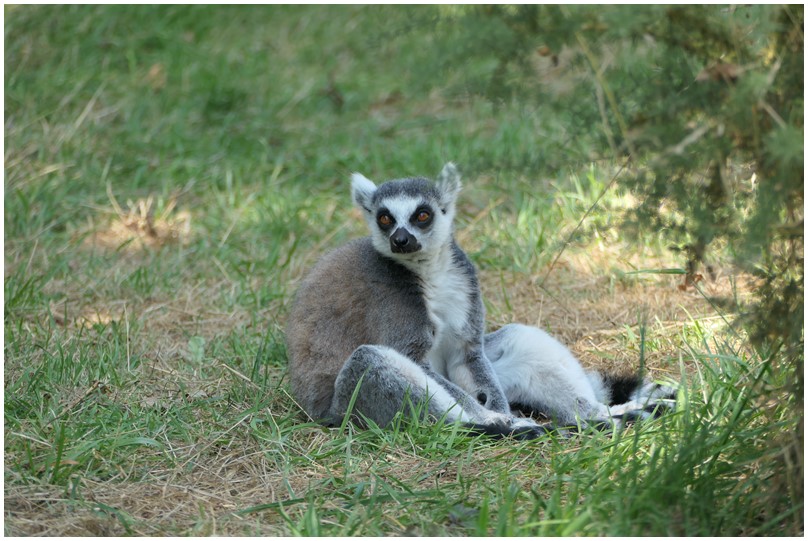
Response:
[[[617,378],[585,371],[566,347],[536,327],[506,325],[486,335],[484,346],[512,407],[542,413],[560,426],[621,426],[651,416],[671,394],[636,378],[633,385],[624,382],[626,400],[616,404]]]

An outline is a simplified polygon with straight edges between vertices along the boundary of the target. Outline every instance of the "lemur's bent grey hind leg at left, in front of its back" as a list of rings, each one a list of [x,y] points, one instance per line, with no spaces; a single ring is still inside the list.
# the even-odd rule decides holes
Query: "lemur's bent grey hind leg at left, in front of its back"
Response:
[[[355,393],[357,385],[361,392]],[[513,435],[521,439],[544,434],[544,430],[529,419],[514,419],[485,409],[453,383],[386,346],[358,347],[337,375],[334,388],[330,411],[334,424],[344,418],[355,396],[352,419],[360,424],[364,416],[384,427],[399,411],[426,404],[426,410],[421,413],[427,417],[459,421],[477,433]]]

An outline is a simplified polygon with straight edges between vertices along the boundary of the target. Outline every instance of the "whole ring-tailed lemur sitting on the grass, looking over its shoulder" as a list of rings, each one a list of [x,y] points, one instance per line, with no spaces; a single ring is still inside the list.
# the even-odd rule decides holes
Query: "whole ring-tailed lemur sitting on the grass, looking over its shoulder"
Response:
[[[544,427],[511,405],[563,426],[620,424],[666,404],[671,388],[586,372],[540,329],[484,334],[477,275],[454,240],[459,192],[451,163],[434,185],[405,178],[377,187],[352,176],[371,235],[314,266],[286,331],[291,387],[306,413],[336,425],[355,400],[354,419],[384,426],[426,403],[433,418],[532,438]]]

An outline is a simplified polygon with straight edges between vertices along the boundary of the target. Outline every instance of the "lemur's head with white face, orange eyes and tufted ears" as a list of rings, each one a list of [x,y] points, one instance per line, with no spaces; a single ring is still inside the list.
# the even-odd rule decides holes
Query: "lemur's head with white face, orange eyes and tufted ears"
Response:
[[[444,249],[452,239],[460,174],[452,163],[437,181],[391,180],[380,186],[359,173],[351,176],[354,203],[365,216],[376,250],[400,261],[417,261]]]

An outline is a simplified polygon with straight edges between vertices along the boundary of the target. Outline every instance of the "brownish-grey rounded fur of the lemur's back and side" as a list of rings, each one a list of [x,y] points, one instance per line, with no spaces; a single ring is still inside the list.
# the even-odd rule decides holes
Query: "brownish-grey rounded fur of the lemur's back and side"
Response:
[[[382,257],[370,238],[323,257],[300,286],[286,341],[291,387],[312,419],[323,420],[345,360],[363,344],[422,360],[431,325],[416,276]]]

